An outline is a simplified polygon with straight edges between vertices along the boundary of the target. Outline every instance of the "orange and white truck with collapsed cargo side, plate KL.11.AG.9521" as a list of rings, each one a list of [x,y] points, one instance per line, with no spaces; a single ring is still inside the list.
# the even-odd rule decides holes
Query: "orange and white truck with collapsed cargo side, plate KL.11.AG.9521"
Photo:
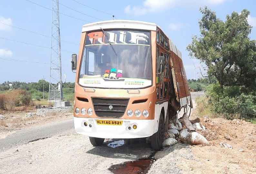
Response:
[[[105,138],[150,137],[161,149],[169,119],[192,106],[182,54],[154,23],[84,25],[72,71],[74,127],[94,146]]]

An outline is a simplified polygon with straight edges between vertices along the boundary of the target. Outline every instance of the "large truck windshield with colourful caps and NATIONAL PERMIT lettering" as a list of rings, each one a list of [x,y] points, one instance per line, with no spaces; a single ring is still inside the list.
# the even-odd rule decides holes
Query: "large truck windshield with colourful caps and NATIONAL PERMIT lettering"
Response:
[[[152,85],[149,31],[111,30],[86,36],[79,84],[137,89]]]

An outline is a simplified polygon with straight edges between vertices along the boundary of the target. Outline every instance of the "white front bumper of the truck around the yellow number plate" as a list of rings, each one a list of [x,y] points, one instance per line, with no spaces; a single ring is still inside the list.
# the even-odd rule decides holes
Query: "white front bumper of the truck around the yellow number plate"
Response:
[[[122,119],[121,126],[97,125],[95,118],[74,117],[74,127],[78,134],[97,138],[143,138],[153,135],[156,132],[156,120],[125,120]],[[119,120],[120,119],[106,119]],[[84,126],[84,122],[87,126]],[[90,127],[89,124],[92,126]],[[136,124],[137,128],[133,129]],[[131,127],[131,130],[128,127]]]

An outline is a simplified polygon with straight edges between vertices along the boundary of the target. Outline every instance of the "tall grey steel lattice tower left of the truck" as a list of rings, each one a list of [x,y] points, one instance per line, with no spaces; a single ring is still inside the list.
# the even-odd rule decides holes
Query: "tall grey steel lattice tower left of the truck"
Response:
[[[62,75],[61,75],[61,49],[60,49],[60,19],[59,0],[53,2],[52,16],[52,39],[51,39],[51,62],[50,62],[50,83],[49,101],[61,101],[62,96]]]

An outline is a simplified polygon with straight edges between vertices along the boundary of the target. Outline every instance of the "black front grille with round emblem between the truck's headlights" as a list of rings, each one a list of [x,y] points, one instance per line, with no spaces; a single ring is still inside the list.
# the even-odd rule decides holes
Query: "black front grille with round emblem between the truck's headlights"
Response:
[[[129,99],[92,98],[92,101],[98,117],[120,118],[126,110]]]

